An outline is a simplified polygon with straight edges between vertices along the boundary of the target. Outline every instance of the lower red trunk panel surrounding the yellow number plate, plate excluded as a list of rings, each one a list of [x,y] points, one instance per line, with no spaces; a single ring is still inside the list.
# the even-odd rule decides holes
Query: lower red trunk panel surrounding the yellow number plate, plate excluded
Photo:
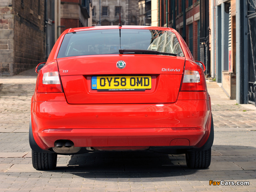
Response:
[[[174,75],[173,83],[165,82],[168,76],[152,76],[152,88],[136,92],[92,90],[91,76],[62,76],[61,79],[69,104],[172,103],[178,97],[182,75]]]

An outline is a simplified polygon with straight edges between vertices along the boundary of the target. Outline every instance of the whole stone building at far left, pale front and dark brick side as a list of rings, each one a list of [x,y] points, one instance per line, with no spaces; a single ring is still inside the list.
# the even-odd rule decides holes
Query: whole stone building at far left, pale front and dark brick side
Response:
[[[44,1],[0,1],[0,75],[44,62]]]

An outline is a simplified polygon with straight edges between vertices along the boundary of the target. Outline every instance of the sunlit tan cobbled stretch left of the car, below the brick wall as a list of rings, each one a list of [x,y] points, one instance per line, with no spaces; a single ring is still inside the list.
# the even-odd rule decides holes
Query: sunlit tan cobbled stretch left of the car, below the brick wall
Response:
[[[15,76],[0,76],[0,132],[28,132],[36,77],[35,68]]]

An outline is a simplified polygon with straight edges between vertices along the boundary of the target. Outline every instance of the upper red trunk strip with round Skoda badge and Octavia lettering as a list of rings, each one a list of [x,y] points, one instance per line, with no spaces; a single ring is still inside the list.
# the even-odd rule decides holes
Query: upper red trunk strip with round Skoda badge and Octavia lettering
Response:
[[[116,63],[126,62],[126,67],[119,69]],[[67,75],[104,75],[104,74],[175,74],[182,75],[185,58],[162,55],[90,55],[57,59],[60,76]],[[162,71],[162,68],[178,69]],[[64,73],[63,70],[68,70]]]

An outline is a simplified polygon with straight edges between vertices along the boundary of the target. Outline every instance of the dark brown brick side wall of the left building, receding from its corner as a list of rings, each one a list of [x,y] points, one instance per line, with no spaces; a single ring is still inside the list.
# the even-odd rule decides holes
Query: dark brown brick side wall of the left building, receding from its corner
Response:
[[[15,0],[14,74],[45,62],[44,1]]]

